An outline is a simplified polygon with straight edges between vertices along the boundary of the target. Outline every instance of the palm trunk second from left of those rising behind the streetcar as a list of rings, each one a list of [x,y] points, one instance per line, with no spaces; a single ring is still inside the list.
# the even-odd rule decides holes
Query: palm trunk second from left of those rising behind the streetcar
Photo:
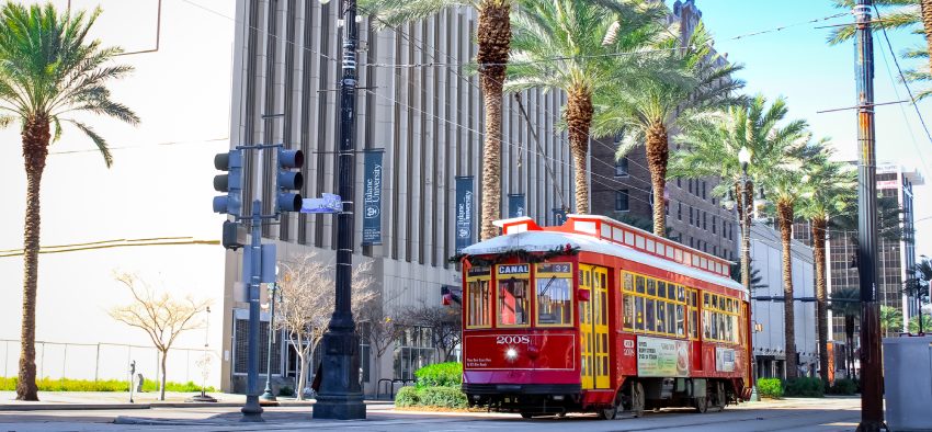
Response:
[[[569,90],[566,121],[569,129],[569,151],[572,155],[576,184],[576,213],[589,213],[589,181],[586,162],[589,156],[589,127],[592,125],[592,92],[586,88]]]

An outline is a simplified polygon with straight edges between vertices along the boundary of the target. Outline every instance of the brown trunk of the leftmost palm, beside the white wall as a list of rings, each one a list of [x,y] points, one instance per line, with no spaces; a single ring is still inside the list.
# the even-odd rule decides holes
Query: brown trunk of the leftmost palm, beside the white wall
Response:
[[[38,289],[39,192],[42,173],[48,157],[48,120],[26,121],[23,133],[23,159],[26,169],[26,215],[23,228],[23,322],[20,330],[20,371],[16,400],[38,400],[35,384],[35,310]]]

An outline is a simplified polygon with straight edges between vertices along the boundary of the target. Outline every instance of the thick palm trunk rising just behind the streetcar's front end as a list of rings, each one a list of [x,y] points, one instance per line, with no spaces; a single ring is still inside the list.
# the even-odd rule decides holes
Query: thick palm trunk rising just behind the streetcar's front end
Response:
[[[477,32],[479,81],[486,106],[486,136],[482,148],[482,220],[480,239],[499,235],[492,221],[501,217],[501,105],[502,83],[511,44],[511,3],[482,0]]]

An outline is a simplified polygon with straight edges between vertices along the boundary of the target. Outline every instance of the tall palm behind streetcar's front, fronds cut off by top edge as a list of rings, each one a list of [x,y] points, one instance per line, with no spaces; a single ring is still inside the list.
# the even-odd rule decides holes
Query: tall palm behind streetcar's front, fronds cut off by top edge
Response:
[[[482,147],[482,217],[479,236],[498,236],[492,221],[501,216],[501,107],[502,84],[511,43],[509,15],[516,0],[360,0],[363,13],[375,16],[377,27],[397,26],[427,19],[446,8],[470,5],[479,22],[476,30],[479,82],[486,107]]]

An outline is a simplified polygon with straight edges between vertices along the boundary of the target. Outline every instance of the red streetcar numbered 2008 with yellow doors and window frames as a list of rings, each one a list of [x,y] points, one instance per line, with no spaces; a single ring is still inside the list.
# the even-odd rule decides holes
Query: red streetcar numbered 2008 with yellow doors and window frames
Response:
[[[750,396],[748,293],[729,261],[570,215],[463,250],[463,391],[523,417],[724,409]]]

